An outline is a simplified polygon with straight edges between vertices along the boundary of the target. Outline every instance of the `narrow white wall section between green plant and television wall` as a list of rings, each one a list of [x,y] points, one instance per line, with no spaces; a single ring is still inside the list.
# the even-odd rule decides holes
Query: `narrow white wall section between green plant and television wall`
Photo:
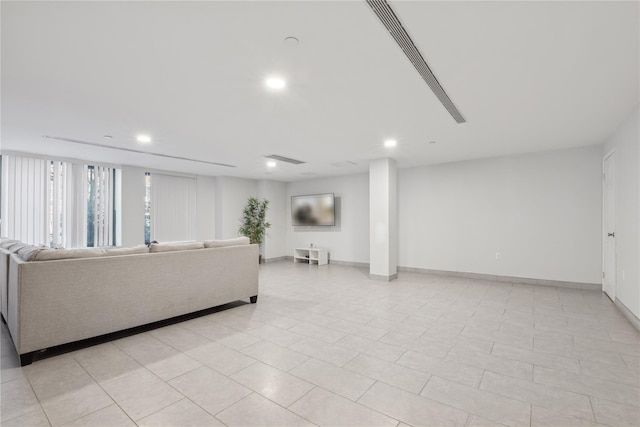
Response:
[[[271,228],[267,229],[264,239],[264,256],[279,258],[286,256],[287,250],[287,184],[281,181],[258,181],[258,195],[260,199],[269,200],[267,221]]]

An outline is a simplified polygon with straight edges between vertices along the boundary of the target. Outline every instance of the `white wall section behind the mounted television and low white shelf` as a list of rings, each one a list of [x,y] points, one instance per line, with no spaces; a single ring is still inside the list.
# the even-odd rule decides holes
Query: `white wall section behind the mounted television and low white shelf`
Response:
[[[334,227],[293,227],[291,196],[334,193]],[[369,263],[369,175],[358,174],[312,179],[287,184],[287,255],[296,247],[314,246],[329,250],[331,260]]]

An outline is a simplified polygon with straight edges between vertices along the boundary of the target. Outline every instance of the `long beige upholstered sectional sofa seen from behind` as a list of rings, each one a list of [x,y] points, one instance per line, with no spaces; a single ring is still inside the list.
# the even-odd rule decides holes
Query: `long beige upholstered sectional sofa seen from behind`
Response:
[[[3,315],[21,363],[61,344],[237,300],[256,302],[258,246],[236,239],[204,243],[90,257],[71,250],[75,256],[67,258],[60,250],[40,250],[27,255],[30,261],[11,254]]]

